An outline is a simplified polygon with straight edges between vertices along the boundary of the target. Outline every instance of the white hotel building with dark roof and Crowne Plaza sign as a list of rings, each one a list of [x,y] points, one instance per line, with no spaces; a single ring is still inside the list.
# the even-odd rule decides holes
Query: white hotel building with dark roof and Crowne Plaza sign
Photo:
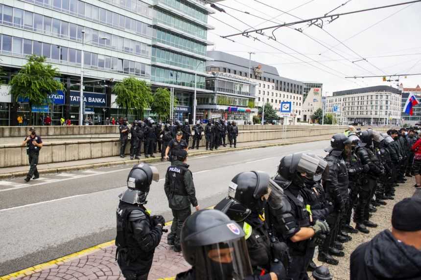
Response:
[[[263,104],[269,103],[272,108],[277,110],[278,116],[281,117],[281,102],[290,101],[292,105],[292,114],[291,118],[289,118],[290,123],[295,123],[301,119],[303,104],[302,82],[281,77],[278,70],[273,66],[228,53],[208,51],[208,56],[212,58],[212,61],[207,63],[206,70],[212,75],[215,73],[226,73],[240,79],[247,78],[252,84],[256,85],[255,108],[261,108]],[[249,109],[251,113],[257,113],[257,111],[252,110],[253,108],[249,107]],[[206,108],[203,108],[203,110],[206,110]],[[252,115],[250,114],[248,117],[251,118]]]

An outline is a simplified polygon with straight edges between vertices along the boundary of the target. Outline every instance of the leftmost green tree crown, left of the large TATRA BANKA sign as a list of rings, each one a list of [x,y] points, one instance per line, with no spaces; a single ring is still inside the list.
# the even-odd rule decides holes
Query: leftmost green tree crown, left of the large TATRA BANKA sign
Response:
[[[57,68],[44,64],[46,58],[31,55],[28,63],[10,81],[11,91],[17,101],[19,97],[28,98],[29,104],[42,105],[49,101],[48,94],[63,89],[63,84],[54,77],[59,76]]]

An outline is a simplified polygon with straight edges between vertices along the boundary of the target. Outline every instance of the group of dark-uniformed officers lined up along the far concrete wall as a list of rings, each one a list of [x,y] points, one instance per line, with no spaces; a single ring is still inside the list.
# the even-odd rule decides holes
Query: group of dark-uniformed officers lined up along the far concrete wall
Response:
[[[164,124],[156,123],[152,118],[147,118],[144,121],[135,120],[132,126],[129,128],[127,121],[123,121],[123,124],[118,127],[120,132],[120,157],[125,157],[125,150],[128,141],[130,140],[130,159],[140,159],[141,146],[143,143],[143,152],[146,158],[149,156],[155,157],[154,153],[157,151],[161,153],[161,161],[164,161],[165,150],[168,143],[176,138],[178,131],[182,132],[182,139],[186,142],[187,147],[190,138],[192,138],[191,149],[199,149],[199,142],[202,139],[202,133],[204,132],[206,137],[206,150],[218,149],[220,146],[226,147],[226,138],[230,147],[237,146],[238,127],[235,122],[224,122],[223,120],[208,120],[205,129],[202,127],[200,121],[196,121],[193,126],[193,132],[190,129],[190,125],[186,120],[182,124],[179,120],[176,120],[172,124],[171,120],[167,120]],[[129,139],[129,133],[131,135]]]

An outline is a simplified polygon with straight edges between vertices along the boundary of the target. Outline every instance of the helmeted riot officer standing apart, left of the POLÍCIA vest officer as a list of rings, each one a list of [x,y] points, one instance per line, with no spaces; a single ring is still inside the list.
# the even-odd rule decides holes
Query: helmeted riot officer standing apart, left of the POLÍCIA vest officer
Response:
[[[117,208],[117,263],[127,280],[147,280],[155,248],[161,241],[165,220],[146,210],[146,196],[158,170],[145,163],[135,165],[127,177],[128,189],[119,195]]]

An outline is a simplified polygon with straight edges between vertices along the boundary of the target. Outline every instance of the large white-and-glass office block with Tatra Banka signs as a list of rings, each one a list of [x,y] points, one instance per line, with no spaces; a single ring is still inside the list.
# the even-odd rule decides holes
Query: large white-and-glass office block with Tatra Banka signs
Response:
[[[31,54],[43,55],[58,69],[63,92],[54,104],[32,108],[39,125],[50,114],[73,124],[79,119],[82,53],[85,114],[99,124],[105,117],[125,115],[115,104],[112,86],[130,76],[153,88],[174,87],[176,118],[190,118],[192,93],[205,89],[207,23],[212,11],[203,0],[3,0],[0,1],[0,53],[8,83]],[[197,74],[197,83],[195,83]],[[2,86],[1,91],[7,91]],[[0,99],[0,125],[16,124],[28,115],[24,100]],[[92,102],[91,102],[92,101]],[[146,116],[149,110],[146,110]],[[137,116],[129,115],[129,119]]]

